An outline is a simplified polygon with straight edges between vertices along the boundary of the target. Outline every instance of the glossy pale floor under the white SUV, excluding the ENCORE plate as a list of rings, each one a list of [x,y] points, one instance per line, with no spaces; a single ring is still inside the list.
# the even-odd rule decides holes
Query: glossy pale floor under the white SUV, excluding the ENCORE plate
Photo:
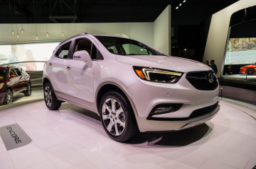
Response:
[[[252,168],[256,120],[238,104],[220,100],[220,106],[206,124],[139,134],[126,144],[110,139],[97,115],[70,104],[57,111],[43,101],[1,110],[0,127],[18,123],[33,141],[6,151],[0,138],[0,168]],[[254,108],[246,111],[256,114]]]

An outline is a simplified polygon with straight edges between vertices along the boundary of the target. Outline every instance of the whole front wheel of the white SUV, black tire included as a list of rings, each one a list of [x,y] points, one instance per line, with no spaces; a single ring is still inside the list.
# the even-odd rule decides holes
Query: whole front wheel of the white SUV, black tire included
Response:
[[[117,91],[103,95],[100,117],[105,131],[115,141],[127,141],[139,132],[129,100]]]

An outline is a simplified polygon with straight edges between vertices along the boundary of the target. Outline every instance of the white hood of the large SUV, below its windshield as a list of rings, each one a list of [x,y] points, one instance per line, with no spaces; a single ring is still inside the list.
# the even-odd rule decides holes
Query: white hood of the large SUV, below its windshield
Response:
[[[191,59],[169,56],[154,56],[154,55],[116,55],[118,62],[131,64],[133,66],[148,66],[159,69],[168,69],[172,71],[208,71],[211,70],[206,64],[196,62]]]

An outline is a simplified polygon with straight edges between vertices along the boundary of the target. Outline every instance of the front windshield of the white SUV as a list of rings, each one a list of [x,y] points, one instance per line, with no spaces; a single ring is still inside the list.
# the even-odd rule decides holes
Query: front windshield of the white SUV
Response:
[[[112,54],[120,55],[161,55],[165,54],[156,51],[149,46],[136,40],[122,37],[95,36]]]

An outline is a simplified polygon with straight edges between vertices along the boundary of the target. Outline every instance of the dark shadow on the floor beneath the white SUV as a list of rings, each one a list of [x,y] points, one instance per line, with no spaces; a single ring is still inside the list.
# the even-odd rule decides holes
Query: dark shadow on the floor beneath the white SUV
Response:
[[[99,134],[104,134],[105,131],[101,126],[100,117],[95,113],[89,110],[85,110],[82,107],[78,107],[76,105],[71,104],[63,104],[59,108],[59,110],[73,110],[73,115],[78,115],[80,119],[88,120],[90,124],[97,125],[96,131]],[[58,110],[57,110],[58,111]],[[214,126],[213,126],[214,127]],[[139,144],[146,143],[147,146],[186,146],[188,144],[193,144],[196,141],[203,139],[204,137],[210,135],[213,129],[208,126],[208,124],[200,124],[196,127],[191,127],[188,129],[183,129],[179,131],[171,131],[171,132],[144,132],[139,133],[137,136],[134,136],[133,139],[125,142],[124,144],[132,144],[134,146]]]

